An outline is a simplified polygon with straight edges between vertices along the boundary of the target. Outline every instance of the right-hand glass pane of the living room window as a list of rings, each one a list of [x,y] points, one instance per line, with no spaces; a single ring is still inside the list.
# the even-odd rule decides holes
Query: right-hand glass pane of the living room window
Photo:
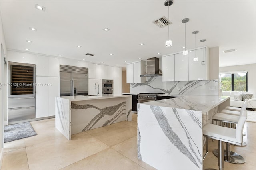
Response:
[[[234,74],[234,91],[246,91],[246,73]]]

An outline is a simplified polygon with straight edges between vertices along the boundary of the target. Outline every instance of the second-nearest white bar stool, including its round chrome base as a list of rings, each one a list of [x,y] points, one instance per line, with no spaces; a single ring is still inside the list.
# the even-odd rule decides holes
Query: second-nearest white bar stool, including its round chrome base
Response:
[[[216,113],[212,117],[212,123],[214,121],[220,121],[222,123],[230,123],[232,125],[237,124],[239,119],[240,119],[240,117],[242,116],[242,113],[244,111],[246,111],[247,104],[248,104],[248,101],[245,101],[244,105],[241,108],[239,116],[237,116],[237,115],[229,115],[229,114],[226,114],[226,113]],[[243,143],[242,144],[238,144],[238,145],[239,146],[243,146]],[[246,145],[246,143],[244,145]],[[217,149],[213,150],[212,152],[213,152],[213,154],[215,156],[218,156],[218,150]],[[230,151],[230,143],[226,143],[226,151],[225,151],[225,153],[227,155],[225,157],[225,161],[226,162],[230,162],[230,163],[234,163],[234,164],[243,164],[243,163],[245,163],[244,158],[240,154],[238,154],[236,152],[233,152],[233,151]]]

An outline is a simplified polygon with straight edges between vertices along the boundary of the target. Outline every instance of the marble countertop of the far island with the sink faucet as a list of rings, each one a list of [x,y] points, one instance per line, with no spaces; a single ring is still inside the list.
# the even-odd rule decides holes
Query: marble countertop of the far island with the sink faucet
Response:
[[[96,99],[109,99],[109,98],[118,98],[118,97],[132,97],[130,95],[121,95],[121,94],[106,94],[106,95],[95,95],[95,96],[61,96],[60,98],[68,99],[70,101],[82,101],[82,100],[96,100]]]

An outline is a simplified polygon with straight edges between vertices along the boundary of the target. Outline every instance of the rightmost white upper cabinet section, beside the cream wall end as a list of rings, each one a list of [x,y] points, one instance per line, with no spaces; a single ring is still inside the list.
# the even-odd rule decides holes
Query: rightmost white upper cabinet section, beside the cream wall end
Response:
[[[204,50],[204,51],[203,51]],[[203,55],[204,52],[204,55]],[[206,48],[192,50],[188,55],[188,80],[206,80],[208,78],[206,70]],[[194,61],[194,57],[198,61]]]

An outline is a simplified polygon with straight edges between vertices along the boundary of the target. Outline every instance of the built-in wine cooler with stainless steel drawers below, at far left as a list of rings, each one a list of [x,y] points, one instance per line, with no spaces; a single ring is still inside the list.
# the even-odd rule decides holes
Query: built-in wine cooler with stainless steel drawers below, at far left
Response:
[[[8,124],[36,117],[35,65],[8,62]]]

